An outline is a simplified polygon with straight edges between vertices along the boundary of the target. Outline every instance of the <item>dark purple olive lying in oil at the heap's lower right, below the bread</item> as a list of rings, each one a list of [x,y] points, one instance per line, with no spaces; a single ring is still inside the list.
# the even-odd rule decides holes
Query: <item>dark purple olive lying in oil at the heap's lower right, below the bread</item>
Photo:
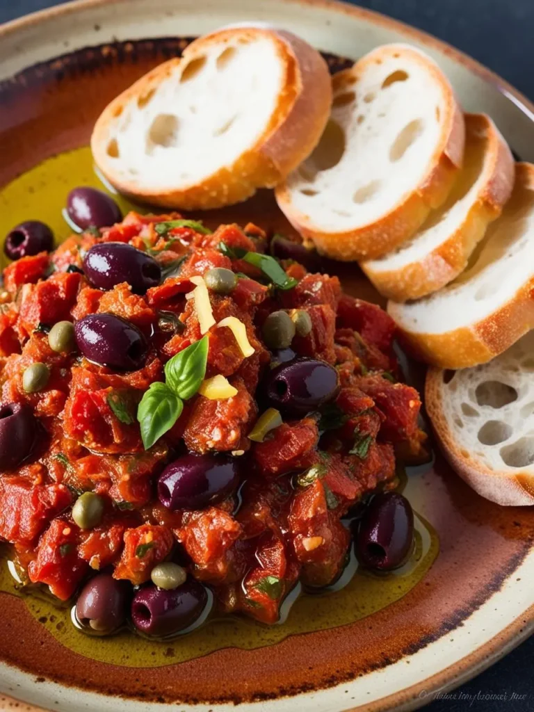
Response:
[[[414,540],[414,512],[397,492],[377,494],[360,520],[356,554],[360,562],[381,571],[401,566]]]

